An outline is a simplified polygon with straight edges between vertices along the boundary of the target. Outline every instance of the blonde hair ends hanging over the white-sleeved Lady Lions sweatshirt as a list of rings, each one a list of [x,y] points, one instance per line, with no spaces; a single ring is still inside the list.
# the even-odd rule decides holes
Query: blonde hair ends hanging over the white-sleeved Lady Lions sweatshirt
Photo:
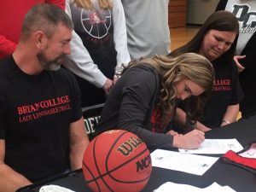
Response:
[[[91,0],[73,0],[73,3],[76,3],[79,8],[83,9],[95,9]],[[112,9],[113,1],[112,0],[98,0],[99,6],[101,9]]]

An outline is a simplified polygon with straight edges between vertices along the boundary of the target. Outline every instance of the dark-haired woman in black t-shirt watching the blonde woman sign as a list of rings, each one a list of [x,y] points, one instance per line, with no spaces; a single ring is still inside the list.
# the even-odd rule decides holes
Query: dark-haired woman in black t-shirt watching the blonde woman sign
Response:
[[[170,56],[194,52],[207,57],[215,70],[212,96],[195,127],[209,131],[236,121],[243,98],[237,67],[233,61],[239,24],[228,11],[218,11],[208,17],[189,43],[172,51]],[[176,121],[185,125],[186,114],[177,108]],[[194,127],[194,125],[192,125]],[[185,127],[188,129],[189,127]]]

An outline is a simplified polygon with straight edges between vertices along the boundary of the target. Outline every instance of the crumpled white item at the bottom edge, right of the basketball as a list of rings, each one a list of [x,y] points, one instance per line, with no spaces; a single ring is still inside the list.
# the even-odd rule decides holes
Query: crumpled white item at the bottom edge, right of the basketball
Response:
[[[231,189],[229,186],[220,186],[218,183],[212,183],[207,188],[197,188],[188,184],[179,184],[166,182],[162,184],[158,189],[155,189],[154,192],[236,192],[234,189]]]

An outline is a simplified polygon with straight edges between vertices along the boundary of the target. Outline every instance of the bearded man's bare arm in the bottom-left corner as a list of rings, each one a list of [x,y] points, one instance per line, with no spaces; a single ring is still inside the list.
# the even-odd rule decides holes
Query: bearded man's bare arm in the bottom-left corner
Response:
[[[0,139],[0,192],[13,192],[20,187],[32,184],[26,177],[4,164],[4,156],[5,142]]]

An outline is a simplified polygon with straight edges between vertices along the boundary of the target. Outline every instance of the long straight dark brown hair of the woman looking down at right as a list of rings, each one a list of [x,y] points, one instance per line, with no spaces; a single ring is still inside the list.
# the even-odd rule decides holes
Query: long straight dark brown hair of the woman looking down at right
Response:
[[[199,53],[205,35],[212,29],[221,32],[236,32],[236,39],[230,46],[230,49],[228,49],[218,58],[224,61],[224,63],[230,63],[233,61],[233,57],[236,51],[236,42],[239,34],[239,23],[235,15],[229,11],[223,10],[217,11],[210,15],[201,26],[200,30],[196,33],[194,38],[192,38],[187,44],[184,44],[180,48],[173,50],[169,55],[177,56],[189,52]]]

